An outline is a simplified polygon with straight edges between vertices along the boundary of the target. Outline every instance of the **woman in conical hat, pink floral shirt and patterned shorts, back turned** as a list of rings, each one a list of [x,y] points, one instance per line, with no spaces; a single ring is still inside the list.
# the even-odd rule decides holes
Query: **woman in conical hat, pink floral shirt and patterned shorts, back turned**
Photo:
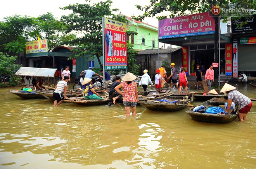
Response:
[[[115,87],[115,90],[123,96],[123,104],[125,106],[126,117],[130,116],[130,107],[132,115],[136,115],[136,105],[138,102],[138,93],[137,93],[137,83],[133,82],[133,80],[137,79],[134,74],[130,72],[126,73],[123,76],[120,85]],[[120,88],[123,88],[123,92],[121,92]]]

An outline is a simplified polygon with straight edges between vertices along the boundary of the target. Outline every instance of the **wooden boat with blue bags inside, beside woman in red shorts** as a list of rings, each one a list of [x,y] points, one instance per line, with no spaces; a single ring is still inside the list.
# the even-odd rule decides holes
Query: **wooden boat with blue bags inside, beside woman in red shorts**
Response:
[[[206,108],[213,106],[220,106],[225,109],[225,102],[227,100],[225,98],[212,98],[211,100],[205,101],[200,104]],[[199,105],[198,105],[199,106]],[[193,112],[193,110],[187,110],[186,113],[192,120],[197,122],[210,122],[210,123],[229,123],[234,121],[239,114],[239,106],[237,106],[234,110],[230,109],[228,114],[212,114],[212,113],[199,113]]]

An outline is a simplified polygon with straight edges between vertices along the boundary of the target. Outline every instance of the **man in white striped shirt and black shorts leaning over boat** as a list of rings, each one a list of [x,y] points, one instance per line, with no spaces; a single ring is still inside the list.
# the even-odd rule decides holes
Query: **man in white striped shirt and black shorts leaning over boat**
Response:
[[[55,86],[55,90],[53,93],[53,99],[54,99],[54,106],[59,106],[61,103],[63,103],[64,98],[67,98],[66,92],[67,92],[67,82],[69,81],[69,76],[64,76],[62,81],[59,81],[58,84]],[[62,91],[64,90],[64,97],[62,96]],[[61,100],[58,102],[58,100]]]

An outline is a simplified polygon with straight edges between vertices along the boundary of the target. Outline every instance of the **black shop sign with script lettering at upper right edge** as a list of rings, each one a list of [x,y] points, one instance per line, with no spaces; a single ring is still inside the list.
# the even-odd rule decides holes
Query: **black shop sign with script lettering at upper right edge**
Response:
[[[256,15],[231,20],[232,34],[256,32]],[[242,25],[242,27],[240,27]]]

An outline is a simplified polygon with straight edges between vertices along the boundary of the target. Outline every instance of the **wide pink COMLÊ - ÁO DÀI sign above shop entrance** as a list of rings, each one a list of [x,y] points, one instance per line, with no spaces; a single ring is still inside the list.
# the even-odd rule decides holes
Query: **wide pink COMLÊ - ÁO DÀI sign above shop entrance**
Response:
[[[209,12],[159,20],[159,39],[214,34],[214,17]]]

